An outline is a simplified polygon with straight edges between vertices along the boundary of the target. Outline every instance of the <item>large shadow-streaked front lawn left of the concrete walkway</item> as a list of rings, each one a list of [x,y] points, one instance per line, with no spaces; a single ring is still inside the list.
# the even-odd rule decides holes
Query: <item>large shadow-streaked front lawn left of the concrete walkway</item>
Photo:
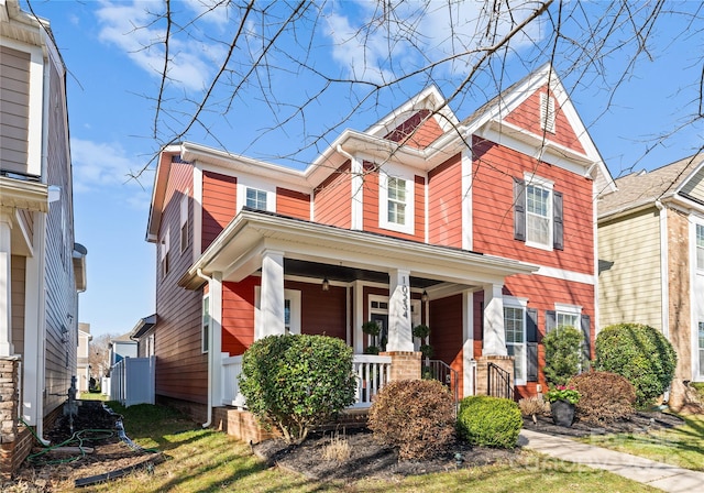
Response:
[[[153,472],[141,471],[110,481],[98,492],[642,492],[656,491],[608,472],[525,452],[513,463],[441,474],[364,480],[353,484],[312,481],[304,475],[267,468],[250,447],[222,432],[201,429],[169,408],[150,405],[124,409],[127,434],[145,448],[158,448],[167,460]],[[321,459],[322,460],[322,459]]]

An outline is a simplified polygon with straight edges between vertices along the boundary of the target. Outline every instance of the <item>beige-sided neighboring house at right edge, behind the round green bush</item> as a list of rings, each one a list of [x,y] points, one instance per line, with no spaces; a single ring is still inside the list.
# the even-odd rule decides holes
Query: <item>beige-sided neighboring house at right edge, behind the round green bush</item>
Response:
[[[600,327],[656,327],[678,352],[670,405],[704,382],[704,154],[616,179],[598,200]]]

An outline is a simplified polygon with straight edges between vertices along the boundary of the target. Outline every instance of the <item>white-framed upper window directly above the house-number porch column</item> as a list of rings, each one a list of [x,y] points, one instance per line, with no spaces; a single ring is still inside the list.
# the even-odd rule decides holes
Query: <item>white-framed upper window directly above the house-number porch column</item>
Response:
[[[380,227],[414,233],[414,182],[380,175]]]

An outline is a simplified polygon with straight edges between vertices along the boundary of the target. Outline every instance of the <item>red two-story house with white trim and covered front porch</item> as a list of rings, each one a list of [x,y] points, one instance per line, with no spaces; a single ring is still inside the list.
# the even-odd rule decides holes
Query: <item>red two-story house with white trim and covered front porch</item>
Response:
[[[147,227],[157,397],[209,421],[231,404],[223,365],[256,339],[324,333],[408,355],[421,322],[459,396],[487,392],[490,363],[516,397],[535,394],[546,330],[579,327],[592,352],[595,196],[609,187],[549,66],[463,121],[430,87],[305,171],[168,146]]]

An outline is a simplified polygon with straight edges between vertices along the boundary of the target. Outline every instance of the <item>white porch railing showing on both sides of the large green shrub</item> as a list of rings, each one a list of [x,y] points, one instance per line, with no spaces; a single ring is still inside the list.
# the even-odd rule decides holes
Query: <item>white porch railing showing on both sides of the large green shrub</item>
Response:
[[[242,357],[222,354],[221,364],[221,395],[222,405],[245,407],[244,396],[240,393],[242,373]],[[386,385],[391,377],[392,358],[372,354],[355,354],[352,371],[356,375],[356,399],[351,408],[365,408],[372,405],[372,399]]]

